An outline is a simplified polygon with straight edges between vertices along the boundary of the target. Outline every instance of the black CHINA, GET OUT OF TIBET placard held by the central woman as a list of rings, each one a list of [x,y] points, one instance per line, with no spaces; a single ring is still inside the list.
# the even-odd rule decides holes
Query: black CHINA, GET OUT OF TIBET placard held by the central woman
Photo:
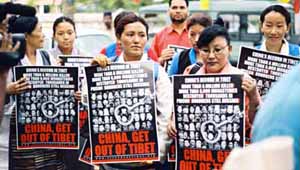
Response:
[[[85,68],[93,164],[159,159],[153,67]]]

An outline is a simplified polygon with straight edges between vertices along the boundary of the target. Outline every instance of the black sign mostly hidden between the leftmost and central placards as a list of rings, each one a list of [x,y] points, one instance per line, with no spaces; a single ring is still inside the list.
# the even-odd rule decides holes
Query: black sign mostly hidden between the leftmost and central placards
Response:
[[[84,67],[91,65],[93,57],[78,55],[61,55],[58,57],[61,59],[61,64],[63,66],[74,66],[79,68],[79,89],[82,89],[82,83],[84,79]],[[80,103],[79,109],[79,126],[80,128],[82,128],[87,122],[88,108],[86,105]]]

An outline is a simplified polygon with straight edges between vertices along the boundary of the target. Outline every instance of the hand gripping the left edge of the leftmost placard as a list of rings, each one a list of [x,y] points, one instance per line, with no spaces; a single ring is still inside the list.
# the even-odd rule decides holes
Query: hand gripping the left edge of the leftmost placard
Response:
[[[8,94],[20,94],[23,93],[25,90],[30,89],[31,86],[29,85],[26,77],[20,78],[19,80],[9,83],[6,86],[6,93]]]

